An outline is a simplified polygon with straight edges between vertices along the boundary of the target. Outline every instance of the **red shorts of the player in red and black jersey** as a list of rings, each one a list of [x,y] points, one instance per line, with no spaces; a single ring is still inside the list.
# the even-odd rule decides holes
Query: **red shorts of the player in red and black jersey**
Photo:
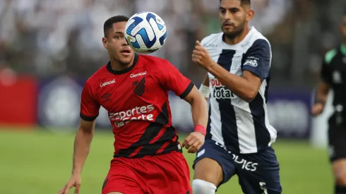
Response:
[[[183,154],[114,158],[102,194],[189,194],[190,171]]]

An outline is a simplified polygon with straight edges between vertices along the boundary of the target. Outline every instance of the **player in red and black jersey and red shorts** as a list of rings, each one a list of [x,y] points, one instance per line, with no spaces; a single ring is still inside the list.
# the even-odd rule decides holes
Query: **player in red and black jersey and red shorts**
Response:
[[[114,16],[105,22],[102,42],[110,61],[83,88],[72,175],[59,194],[72,187],[79,192],[100,106],[108,111],[115,138],[102,194],[192,193],[181,147],[195,153],[203,145],[208,104],[169,61],[133,52],[124,38],[127,20]],[[181,145],[172,126],[169,90],[191,104],[195,131]]]

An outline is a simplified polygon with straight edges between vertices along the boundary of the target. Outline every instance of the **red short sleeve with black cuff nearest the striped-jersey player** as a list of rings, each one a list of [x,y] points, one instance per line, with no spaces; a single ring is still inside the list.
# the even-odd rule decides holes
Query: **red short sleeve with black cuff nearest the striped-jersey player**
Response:
[[[191,80],[182,75],[169,61],[162,63],[159,78],[166,90],[171,90],[181,99],[189,95],[194,86]]]

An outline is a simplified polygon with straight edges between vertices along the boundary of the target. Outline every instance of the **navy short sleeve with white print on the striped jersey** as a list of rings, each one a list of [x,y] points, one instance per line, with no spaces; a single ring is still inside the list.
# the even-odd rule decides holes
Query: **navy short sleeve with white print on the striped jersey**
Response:
[[[271,51],[267,40],[258,39],[246,51],[245,61],[242,70],[251,71],[251,73],[264,80],[268,77],[270,70]]]

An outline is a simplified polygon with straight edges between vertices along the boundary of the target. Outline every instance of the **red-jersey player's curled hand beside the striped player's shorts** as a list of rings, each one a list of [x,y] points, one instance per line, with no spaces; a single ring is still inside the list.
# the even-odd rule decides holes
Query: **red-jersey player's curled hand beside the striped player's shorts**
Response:
[[[190,133],[181,145],[188,149],[188,153],[196,153],[204,144],[204,138],[203,133],[195,131]]]

